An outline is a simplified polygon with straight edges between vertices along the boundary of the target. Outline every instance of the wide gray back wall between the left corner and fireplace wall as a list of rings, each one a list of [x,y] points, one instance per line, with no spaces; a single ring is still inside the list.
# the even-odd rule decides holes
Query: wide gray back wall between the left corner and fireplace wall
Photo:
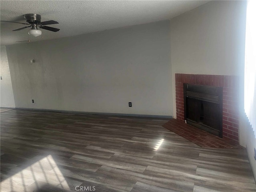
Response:
[[[18,108],[173,115],[169,21],[6,49]]]

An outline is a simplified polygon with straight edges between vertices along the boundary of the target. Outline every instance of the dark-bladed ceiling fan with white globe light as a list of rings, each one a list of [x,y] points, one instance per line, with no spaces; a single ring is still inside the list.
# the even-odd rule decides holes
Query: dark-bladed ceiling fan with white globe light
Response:
[[[42,31],[38,30],[38,27],[41,29],[46,29],[49,31],[53,31],[53,32],[57,32],[60,29],[57,28],[53,28],[53,27],[48,27],[46,25],[51,25],[51,24],[58,24],[58,22],[54,21],[54,20],[50,20],[50,21],[44,21],[41,22],[41,16],[38,14],[24,14],[24,18],[26,19],[26,22],[28,23],[20,23],[20,22],[13,22],[13,21],[2,21],[2,22],[11,22],[11,23],[19,23],[19,24],[23,24],[23,25],[29,25],[26,27],[22,27],[13,31],[19,31],[22,29],[26,29],[30,27],[30,30],[28,30],[28,34],[32,35],[32,36],[40,36],[42,34]]]

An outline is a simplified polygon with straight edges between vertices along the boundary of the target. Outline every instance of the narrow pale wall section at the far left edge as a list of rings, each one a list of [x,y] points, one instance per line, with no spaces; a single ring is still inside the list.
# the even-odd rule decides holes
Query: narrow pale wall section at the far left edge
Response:
[[[6,47],[1,46],[0,50],[0,76],[2,76],[2,80],[0,80],[0,107],[15,108]]]

